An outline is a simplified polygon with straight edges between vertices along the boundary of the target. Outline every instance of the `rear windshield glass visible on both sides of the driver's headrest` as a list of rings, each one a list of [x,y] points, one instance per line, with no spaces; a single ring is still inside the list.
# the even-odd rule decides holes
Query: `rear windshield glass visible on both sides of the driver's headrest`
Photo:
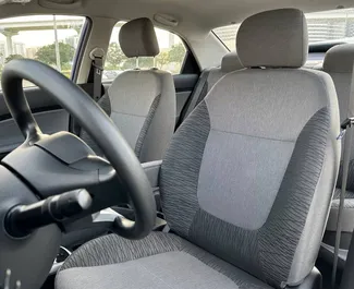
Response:
[[[307,13],[308,41],[344,41],[354,43],[354,9]],[[235,50],[235,37],[240,24],[213,29],[213,33],[230,49]]]

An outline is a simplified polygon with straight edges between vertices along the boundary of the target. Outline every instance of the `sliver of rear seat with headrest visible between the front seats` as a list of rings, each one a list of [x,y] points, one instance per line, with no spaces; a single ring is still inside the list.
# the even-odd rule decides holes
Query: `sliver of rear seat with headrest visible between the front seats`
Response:
[[[236,52],[230,52],[225,55],[221,60],[221,67],[206,69],[202,72],[199,81],[197,82],[194,91],[183,108],[180,117],[181,124],[192,110],[206,97],[211,87],[225,74],[232,71],[241,70],[243,65],[236,55]]]

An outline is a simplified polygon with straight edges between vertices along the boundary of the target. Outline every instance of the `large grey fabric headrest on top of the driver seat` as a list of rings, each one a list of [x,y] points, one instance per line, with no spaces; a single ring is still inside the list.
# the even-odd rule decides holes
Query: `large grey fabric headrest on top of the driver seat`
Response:
[[[305,15],[297,9],[255,14],[241,24],[236,48],[246,68],[300,68],[308,51]]]

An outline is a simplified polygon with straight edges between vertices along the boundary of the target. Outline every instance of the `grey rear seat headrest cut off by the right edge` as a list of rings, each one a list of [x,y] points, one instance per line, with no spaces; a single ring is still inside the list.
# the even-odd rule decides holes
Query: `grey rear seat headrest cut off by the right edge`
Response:
[[[354,44],[337,45],[329,49],[324,60],[324,71],[352,73],[354,62]]]

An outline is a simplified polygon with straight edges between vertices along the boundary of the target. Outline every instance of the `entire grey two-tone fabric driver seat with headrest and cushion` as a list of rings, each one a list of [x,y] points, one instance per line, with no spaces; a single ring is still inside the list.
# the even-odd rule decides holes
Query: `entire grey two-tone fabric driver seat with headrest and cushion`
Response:
[[[61,267],[57,289],[318,288],[304,280],[339,168],[333,82],[300,69],[307,26],[298,10],[248,17],[236,45],[246,69],[213,86],[163,159],[171,231],[84,244]]]

